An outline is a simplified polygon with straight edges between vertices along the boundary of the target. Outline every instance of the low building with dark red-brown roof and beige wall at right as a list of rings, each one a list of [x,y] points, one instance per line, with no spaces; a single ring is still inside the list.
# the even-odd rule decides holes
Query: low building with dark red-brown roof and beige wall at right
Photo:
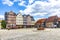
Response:
[[[56,24],[58,21],[57,19],[58,19],[57,16],[48,17],[48,19],[46,20],[46,27],[57,27],[57,24]]]

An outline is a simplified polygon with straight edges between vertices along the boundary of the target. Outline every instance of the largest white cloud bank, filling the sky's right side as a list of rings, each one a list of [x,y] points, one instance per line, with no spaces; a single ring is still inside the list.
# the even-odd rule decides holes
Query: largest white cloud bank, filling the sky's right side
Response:
[[[31,14],[33,16],[60,16],[60,0],[35,1],[32,5],[22,11],[24,14]],[[39,19],[39,18],[37,18]]]

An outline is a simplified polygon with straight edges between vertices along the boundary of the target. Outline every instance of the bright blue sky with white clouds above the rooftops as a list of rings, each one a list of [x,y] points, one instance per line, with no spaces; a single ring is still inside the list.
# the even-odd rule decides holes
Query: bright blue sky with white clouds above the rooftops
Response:
[[[54,15],[60,17],[60,0],[0,0],[0,19],[9,11],[30,14],[35,20]]]

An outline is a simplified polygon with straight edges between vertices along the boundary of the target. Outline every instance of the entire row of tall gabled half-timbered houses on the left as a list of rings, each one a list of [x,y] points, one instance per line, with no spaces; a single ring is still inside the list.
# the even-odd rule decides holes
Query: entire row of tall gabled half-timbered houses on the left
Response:
[[[35,20],[30,15],[22,15],[18,13],[17,15],[10,11],[5,12],[6,28],[30,28],[35,25]]]

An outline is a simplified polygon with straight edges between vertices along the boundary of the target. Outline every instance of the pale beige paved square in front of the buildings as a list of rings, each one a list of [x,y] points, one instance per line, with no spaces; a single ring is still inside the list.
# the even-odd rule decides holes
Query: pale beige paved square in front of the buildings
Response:
[[[60,40],[60,29],[0,30],[0,40]]]

